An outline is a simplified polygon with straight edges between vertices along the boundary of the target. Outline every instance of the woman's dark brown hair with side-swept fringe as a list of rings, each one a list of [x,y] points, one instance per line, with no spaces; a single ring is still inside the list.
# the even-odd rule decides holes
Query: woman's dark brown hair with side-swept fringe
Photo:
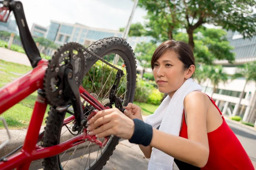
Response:
[[[159,59],[168,50],[174,51],[177,54],[178,59],[183,62],[184,71],[188,69],[190,65],[195,65],[195,57],[189,44],[182,41],[167,40],[160,44],[154,51],[151,59],[152,69],[154,68],[154,62],[156,62],[157,59]]]

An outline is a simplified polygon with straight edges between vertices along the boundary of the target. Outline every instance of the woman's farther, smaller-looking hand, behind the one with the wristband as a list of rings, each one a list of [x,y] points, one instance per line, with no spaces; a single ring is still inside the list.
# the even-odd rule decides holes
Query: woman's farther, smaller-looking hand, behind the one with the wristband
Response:
[[[126,110],[124,111],[125,115],[128,116],[131,119],[140,119],[143,121],[142,115],[141,115],[141,109],[139,106],[134,105],[133,103],[129,103],[127,106],[123,107]]]

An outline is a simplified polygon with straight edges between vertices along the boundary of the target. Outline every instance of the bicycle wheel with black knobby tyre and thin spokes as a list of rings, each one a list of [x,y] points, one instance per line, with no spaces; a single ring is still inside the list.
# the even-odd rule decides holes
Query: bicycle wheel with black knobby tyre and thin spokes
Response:
[[[131,46],[125,40],[109,37],[95,42],[88,49],[123,70],[125,75],[119,82],[116,96],[123,99],[124,106],[128,105],[129,102],[133,102],[137,76],[136,61]],[[82,85],[93,97],[102,102],[102,105],[108,105],[108,95],[116,79],[116,70],[90,54],[86,54],[85,59],[87,73],[84,76]],[[85,107],[84,116],[88,116],[93,107],[86,101],[83,102],[83,105]],[[62,136],[65,133],[69,133],[67,127],[69,129],[74,127],[72,123],[67,127],[63,126],[64,113],[58,113],[51,109],[48,114],[43,139],[44,147],[65,141]],[[78,135],[82,135],[81,132],[82,130],[78,131]],[[72,135],[71,137],[74,136]],[[98,145],[84,142],[60,155],[45,158],[43,161],[44,168],[45,170],[73,170],[79,168],[101,170],[112,155],[118,141],[118,137],[111,136],[106,146],[102,149]]]

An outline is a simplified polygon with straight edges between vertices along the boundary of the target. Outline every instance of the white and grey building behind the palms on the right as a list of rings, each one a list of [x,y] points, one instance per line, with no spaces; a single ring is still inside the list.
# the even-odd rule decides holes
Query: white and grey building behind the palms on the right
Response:
[[[229,64],[226,60],[219,60],[215,61],[215,63],[221,64],[224,67],[224,71],[232,75],[236,72],[236,66],[256,61],[256,35],[251,39],[243,39],[237,32],[228,31],[227,33],[230,45],[234,47],[233,52],[236,53],[235,62]],[[227,84],[220,83],[217,92],[211,97],[215,100],[216,105],[218,105],[223,114],[235,116],[235,112],[238,110],[236,115],[241,113],[243,121],[256,125],[256,82],[247,82],[247,85],[244,87],[245,82],[244,78],[229,79]],[[210,79],[207,79],[202,84],[202,87],[206,94],[209,96],[212,94],[213,86]],[[239,96],[243,89],[244,95],[242,96],[241,105],[238,106]]]

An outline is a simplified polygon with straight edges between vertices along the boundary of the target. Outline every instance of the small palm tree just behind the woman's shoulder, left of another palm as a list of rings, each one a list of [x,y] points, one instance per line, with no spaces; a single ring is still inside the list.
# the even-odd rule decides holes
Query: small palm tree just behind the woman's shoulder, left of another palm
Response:
[[[212,91],[212,95],[213,95],[216,91],[216,88],[218,87],[218,84],[220,82],[226,83],[228,77],[227,77],[227,74],[223,72],[223,68],[221,65],[212,66],[210,68],[209,73],[211,74],[210,79],[213,85],[213,91]]]

